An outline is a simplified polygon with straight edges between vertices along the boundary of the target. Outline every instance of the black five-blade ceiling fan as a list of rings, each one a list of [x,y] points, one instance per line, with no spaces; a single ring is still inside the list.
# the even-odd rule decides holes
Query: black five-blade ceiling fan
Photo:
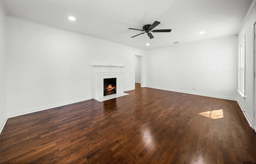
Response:
[[[158,21],[155,21],[153,24],[146,24],[145,26],[143,26],[142,30],[140,29],[136,29],[136,28],[128,28],[128,29],[131,29],[131,30],[139,30],[139,31],[145,31],[147,34],[148,34],[148,37],[150,39],[154,38],[154,36],[150,33],[150,32],[171,32],[172,29],[167,29],[167,30],[153,30],[153,28],[155,28],[158,24],[160,24],[160,22]],[[138,35],[141,35],[141,34],[144,34],[145,32],[142,32]],[[138,36],[138,35],[135,35],[135,36]],[[131,38],[135,37],[135,36],[132,36]]]

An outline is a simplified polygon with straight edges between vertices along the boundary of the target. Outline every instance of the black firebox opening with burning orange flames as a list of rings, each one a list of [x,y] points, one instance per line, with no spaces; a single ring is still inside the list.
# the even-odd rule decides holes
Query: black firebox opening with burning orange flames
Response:
[[[116,94],[116,78],[104,78],[104,95]]]

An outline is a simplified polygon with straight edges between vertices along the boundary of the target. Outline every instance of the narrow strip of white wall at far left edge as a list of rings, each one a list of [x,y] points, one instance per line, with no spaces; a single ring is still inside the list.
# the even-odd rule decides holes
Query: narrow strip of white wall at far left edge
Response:
[[[6,12],[0,1],[0,133],[7,121],[6,108]]]

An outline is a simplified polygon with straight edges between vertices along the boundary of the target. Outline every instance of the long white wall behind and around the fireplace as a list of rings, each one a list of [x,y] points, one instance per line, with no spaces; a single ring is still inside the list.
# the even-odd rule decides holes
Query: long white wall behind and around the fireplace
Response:
[[[134,89],[134,55],[145,51],[7,17],[8,117],[92,98],[92,64],[124,65]]]

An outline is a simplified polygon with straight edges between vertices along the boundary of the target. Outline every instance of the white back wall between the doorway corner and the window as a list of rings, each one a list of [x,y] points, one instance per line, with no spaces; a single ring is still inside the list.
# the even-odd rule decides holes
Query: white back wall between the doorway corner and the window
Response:
[[[236,100],[237,49],[232,35],[147,50],[146,86]]]

